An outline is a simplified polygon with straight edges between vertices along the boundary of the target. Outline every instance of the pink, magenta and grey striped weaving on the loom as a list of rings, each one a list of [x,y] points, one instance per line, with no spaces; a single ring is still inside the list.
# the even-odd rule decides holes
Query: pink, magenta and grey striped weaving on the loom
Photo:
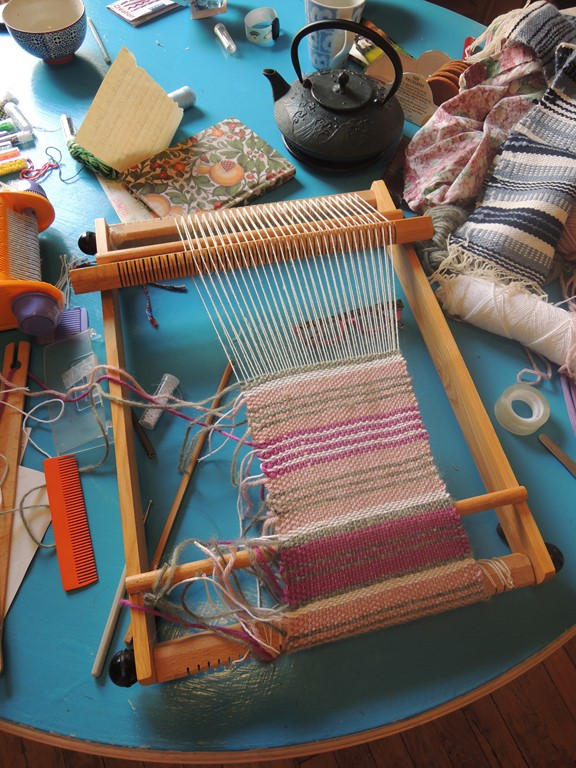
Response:
[[[294,651],[487,597],[398,353],[245,392]]]

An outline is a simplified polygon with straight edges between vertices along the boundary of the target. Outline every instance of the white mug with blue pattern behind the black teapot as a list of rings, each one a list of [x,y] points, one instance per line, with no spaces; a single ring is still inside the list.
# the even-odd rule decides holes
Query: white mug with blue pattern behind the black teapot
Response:
[[[306,23],[334,19],[360,22],[366,0],[306,0]],[[348,55],[355,35],[341,29],[322,29],[308,38],[310,62],[316,69],[337,67]]]

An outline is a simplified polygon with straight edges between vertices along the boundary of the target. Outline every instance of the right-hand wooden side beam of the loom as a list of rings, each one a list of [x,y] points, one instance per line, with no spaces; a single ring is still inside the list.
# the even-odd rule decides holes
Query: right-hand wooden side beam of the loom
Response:
[[[374,182],[372,188],[378,189],[381,205],[389,207],[392,204],[384,182]],[[400,252],[397,246],[392,246],[392,252],[394,270],[485,487],[488,491],[496,491],[518,485],[414,249],[407,247]],[[502,506],[497,514],[512,551],[522,552],[530,558],[536,583],[552,578],[556,570],[526,502]]]

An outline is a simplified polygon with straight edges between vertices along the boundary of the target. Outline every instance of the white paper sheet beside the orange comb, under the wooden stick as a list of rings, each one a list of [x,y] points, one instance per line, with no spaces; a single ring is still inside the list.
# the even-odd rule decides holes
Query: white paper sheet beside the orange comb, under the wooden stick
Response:
[[[27,467],[19,467],[15,506],[18,507],[20,500],[25,493],[32,490],[32,488],[36,488],[36,486],[43,485],[43,483],[43,472],[39,472],[36,469],[28,469]],[[48,507],[46,488],[43,487],[35,493],[31,493],[25,503],[26,506],[32,504],[44,505],[42,507],[28,509],[25,512],[30,529],[34,533],[36,539],[41,541],[50,525],[50,509]],[[26,576],[26,572],[34,559],[37,549],[38,547],[24,528],[20,513],[16,512],[12,524],[12,548],[10,550],[10,567],[6,587],[6,613],[8,613],[12,601],[16,597],[16,593]]]

